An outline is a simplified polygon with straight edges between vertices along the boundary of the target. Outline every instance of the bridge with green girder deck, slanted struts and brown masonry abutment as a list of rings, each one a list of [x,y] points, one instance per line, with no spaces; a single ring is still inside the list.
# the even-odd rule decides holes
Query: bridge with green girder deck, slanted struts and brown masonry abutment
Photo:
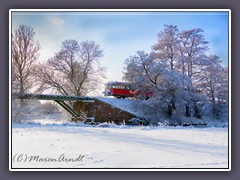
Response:
[[[14,99],[53,100],[72,115],[73,121],[83,120],[86,115],[89,122],[115,122],[127,123],[136,115],[115,107],[107,102],[88,96],[65,96],[50,94],[15,94]],[[66,101],[72,101],[73,107]]]

